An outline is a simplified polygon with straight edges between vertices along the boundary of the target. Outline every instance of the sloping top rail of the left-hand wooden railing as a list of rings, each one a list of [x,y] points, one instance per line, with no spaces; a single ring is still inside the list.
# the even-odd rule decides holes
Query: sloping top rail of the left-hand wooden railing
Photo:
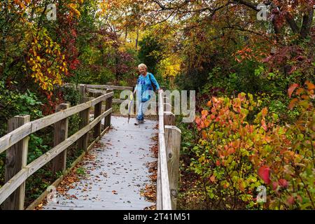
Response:
[[[58,121],[63,120],[64,118],[68,118],[69,116],[72,116],[75,113],[84,111],[85,109],[88,109],[91,106],[94,106],[95,104],[98,104],[99,102],[108,99],[109,97],[113,97],[113,92],[106,93],[84,104],[73,106],[64,111],[53,113],[50,116],[45,116],[44,118],[31,121],[29,123],[26,123],[25,125],[22,125],[21,127],[18,127],[13,132],[10,132],[0,138],[0,153],[6,151],[6,149],[10,148],[10,146],[13,146],[18,141],[27,137],[29,134],[41,130],[44,127],[48,127],[49,125],[52,125],[54,123],[57,123]]]

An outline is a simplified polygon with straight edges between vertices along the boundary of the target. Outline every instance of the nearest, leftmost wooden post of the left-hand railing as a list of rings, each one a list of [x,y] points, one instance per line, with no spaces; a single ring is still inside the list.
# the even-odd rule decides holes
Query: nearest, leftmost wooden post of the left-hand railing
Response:
[[[25,125],[30,121],[30,116],[15,116],[8,120],[8,132],[12,132],[18,127]],[[27,148],[29,143],[29,137],[22,139],[14,146],[11,146],[6,151],[6,179],[8,182],[10,179],[18,174],[20,170],[27,165]],[[3,203],[4,210],[23,210],[25,200],[25,182],[13,192],[10,197]]]

